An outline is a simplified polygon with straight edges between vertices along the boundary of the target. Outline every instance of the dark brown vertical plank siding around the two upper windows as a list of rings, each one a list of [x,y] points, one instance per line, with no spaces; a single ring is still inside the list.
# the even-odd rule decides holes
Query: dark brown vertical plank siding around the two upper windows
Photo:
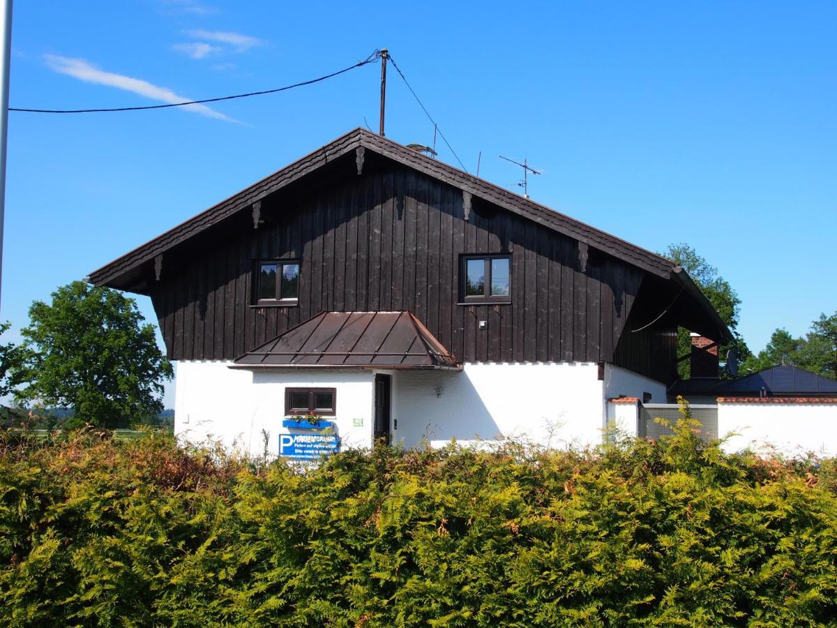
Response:
[[[652,351],[645,336],[617,350],[644,270],[597,251],[582,271],[575,239],[480,198],[466,222],[459,188],[396,162],[374,165],[275,193],[258,229],[242,223],[167,260],[150,291],[169,357],[232,360],[320,311],[400,310],[463,362],[619,353],[628,363],[626,352]],[[511,254],[511,303],[459,305],[469,253]],[[251,305],[260,259],[300,260],[297,306]]]

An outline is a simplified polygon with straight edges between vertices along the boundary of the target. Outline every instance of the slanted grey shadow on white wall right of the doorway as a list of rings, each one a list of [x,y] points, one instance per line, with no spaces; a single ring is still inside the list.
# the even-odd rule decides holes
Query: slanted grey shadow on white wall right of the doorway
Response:
[[[398,373],[393,417],[394,439],[406,447],[423,440],[441,445],[458,441],[499,440],[503,430],[465,373]]]

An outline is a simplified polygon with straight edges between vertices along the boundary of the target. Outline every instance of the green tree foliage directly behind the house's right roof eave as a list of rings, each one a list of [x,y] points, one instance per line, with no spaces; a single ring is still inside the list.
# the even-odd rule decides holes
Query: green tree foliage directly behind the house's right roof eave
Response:
[[[669,248],[661,255],[669,258],[689,273],[691,279],[701,288],[703,294],[706,295],[706,298],[712,304],[712,307],[718,312],[721,320],[726,323],[730,332],[736,338],[736,342],[732,343],[732,345],[720,347],[719,355],[725,355],[727,349],[732,348],[737,353],[738,358],[746,359],[750,355],[750,350],[738,332],[738,322],[741,317],[741,299],[729,281],[724,279],[718,272],[718,269],[706,261],[706,258],[698,255],[696,250],[685,243],[669,245]],[[686,356],[690,352],[691,337],[689,336],[689,330],[680,329],[677,336],[677,355],[678,357]],[[680,378],[686,379],[689,377],[690,368],[688,360],[683,360],[678,364],[678,374]]]

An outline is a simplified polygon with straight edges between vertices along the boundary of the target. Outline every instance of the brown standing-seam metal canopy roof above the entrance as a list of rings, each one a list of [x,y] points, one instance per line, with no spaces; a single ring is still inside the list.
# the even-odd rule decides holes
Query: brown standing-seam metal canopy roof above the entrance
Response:
[[[237,358],[230,368],[461,370],[409,311],[323,311]]]

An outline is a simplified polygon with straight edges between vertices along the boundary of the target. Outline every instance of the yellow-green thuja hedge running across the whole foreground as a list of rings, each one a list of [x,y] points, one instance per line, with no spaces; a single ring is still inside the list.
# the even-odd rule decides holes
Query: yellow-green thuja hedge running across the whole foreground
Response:
[[[830,462],[677,432],[310,469],[5,432],[0,624],[834,624]]]

